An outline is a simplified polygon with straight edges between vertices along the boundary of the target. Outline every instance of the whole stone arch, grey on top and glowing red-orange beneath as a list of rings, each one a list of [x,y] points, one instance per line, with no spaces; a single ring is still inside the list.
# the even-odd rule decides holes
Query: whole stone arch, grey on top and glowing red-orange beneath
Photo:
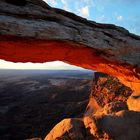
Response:
[[[139,36],[52,8],[41,0],[21,1],[26,2],[0,0],[0,59],[64,61],[118,77],[133,95],[140,96]]]

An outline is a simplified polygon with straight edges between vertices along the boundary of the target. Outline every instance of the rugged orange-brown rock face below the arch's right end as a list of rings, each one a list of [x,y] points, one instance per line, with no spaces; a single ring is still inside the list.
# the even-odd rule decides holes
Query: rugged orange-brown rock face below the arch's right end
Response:
[[[96,72],[93,78],[87,113],[96,112],[106,104],[110,105],[109,103],[112,103],[112,101],[127,104],[127,99],[131,94],[132,90],[120,83],[117,78]]]

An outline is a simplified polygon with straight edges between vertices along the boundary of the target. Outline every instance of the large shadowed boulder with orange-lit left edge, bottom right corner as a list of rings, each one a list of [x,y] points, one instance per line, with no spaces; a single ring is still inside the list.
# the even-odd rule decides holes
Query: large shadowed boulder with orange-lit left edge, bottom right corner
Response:
[[[140,138],[139,112],[126,110],[110,114],[100,112],[92,117],[85,117],[84,124],[93,140],[138,140]]]

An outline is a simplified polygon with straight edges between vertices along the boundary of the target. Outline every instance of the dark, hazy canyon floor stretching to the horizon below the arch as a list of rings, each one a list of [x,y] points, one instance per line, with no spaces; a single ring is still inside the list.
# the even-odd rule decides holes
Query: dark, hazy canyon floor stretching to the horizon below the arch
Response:
[[[64,118],[82,117],[93,71],[0,70],[0,140],[44,138]]]

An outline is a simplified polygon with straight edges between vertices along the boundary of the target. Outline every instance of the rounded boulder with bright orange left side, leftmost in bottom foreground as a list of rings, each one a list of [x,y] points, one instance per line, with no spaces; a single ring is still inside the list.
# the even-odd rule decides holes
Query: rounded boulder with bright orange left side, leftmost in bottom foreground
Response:
[[[80,119],[64,119],[58,123],[45,140],[85,140],[85,127]]]

